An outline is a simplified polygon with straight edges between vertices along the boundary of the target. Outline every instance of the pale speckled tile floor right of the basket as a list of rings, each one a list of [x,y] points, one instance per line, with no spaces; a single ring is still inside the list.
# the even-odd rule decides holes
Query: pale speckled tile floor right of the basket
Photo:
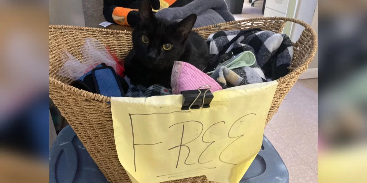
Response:
[[[295,83],[264,135],[286,164],[290,183],[317,183],[317,78]]]

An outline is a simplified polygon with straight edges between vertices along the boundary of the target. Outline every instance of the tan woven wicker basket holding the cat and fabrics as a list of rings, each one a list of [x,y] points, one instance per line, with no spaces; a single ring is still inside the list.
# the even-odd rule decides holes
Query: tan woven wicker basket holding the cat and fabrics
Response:
[[[194,29],[207,38],[219,30],[239,30],[260,28],[281,33],[286,22],[298,23],[305,27],[301,37],[294,43],[294,56],[290,72],[277,79],[278,87],[269,109],[266,124],[277,112],[279,105],[299,75],[307,69],[317,49],[315,31],[305,22],[291,18],[255,18],[221,23],[218,25]],[[75,26],[50,25],[50,98],[69,122],[80,141],[90,153],[107,180],[113,183],[131,182],[117,157],[110,97],[79,90],[69,85],[70,79],[57,75],[62,67],[64,50],[83,60],[80,47],[85,38],[95,38],[103,45],[109,46],[118,57],[123,58],[132,47],[131,32],[107,29],[95,29]],[[209,182],[205,176],[170,181],[170,183],[204,183]]]

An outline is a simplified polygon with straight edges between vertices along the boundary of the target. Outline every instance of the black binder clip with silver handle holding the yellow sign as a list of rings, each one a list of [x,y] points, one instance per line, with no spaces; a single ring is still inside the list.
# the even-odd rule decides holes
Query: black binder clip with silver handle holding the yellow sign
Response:
[[[201,89],[208,87],[208,89]],[[199,109],[200,107],[208,108],[214,96],[210,92],[211,86],[200,86],[197,90],[181,91],[183,95],[181,110]]]

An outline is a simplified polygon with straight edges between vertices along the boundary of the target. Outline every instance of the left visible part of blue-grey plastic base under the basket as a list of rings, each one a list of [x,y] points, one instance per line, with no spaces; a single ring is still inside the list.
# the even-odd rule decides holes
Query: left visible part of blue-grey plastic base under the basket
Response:
[[[108,183],[70,125],[50,150],[50,183]]]

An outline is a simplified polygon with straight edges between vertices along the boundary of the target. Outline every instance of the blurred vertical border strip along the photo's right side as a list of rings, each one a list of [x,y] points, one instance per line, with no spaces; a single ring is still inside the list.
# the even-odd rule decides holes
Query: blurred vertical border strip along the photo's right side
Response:
[[[367,182],[367,1],[319,10],[319,182]]]

